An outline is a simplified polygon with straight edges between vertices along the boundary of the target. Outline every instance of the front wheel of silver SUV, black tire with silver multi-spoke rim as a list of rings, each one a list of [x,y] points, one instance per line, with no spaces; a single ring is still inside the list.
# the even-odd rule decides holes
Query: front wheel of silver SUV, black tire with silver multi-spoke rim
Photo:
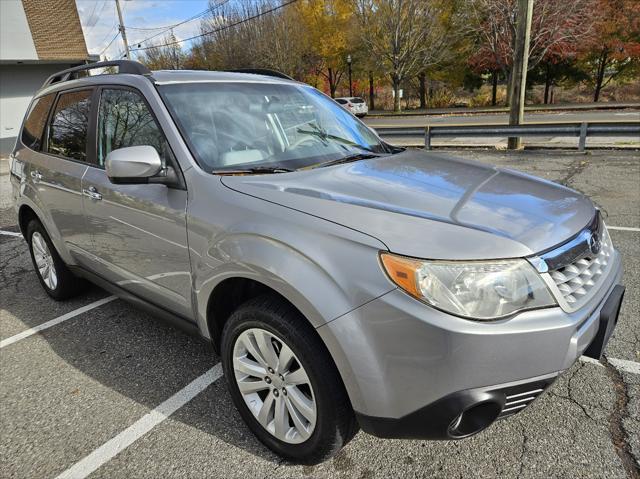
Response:
[[[266,355],[262,354],[262,350],[254,348],[255,354],[262,355],[261,361],[257,361],[249,349],[245,348],[249,342],[258,341],[256,338],[260,335],[263,338],[260,344],[264,345],[266,338],[272,351],[279,355],[279,365],[285,361],[284,356],[292,358],[290,367],[282,367],[280,370],[276,368],[271,371],[273,374],[267,371],[264,380],[259,379],[265,369],[264,363],[261,365],[260,362],[264,361]],[[259,343],[252,344],[257,346]],[[292,354],[285,348],[289,348]],[[283,299],[275,295],[263,295],[240,306],[224,326],[221,351],[224,374],[236,408],[249,429],[276,454],[295,463],[317,464],[335,455],[358,431],[351,403],[329,352],[306,319]],[[246,375],[237,369],[239,363],[234,362],[234,358],[236,361],[249,361],[246,364],[257,365],[262,369],[255,376]],[[279,372],[282,374],[278,374]],[[302,377],[308,379],[308,384],[299,379]],[[250,382],[254,380],[256,382],[253,384],[257,384],[261,390],[249,393],[245,399],[239,384],[243,385],[246,394],[247,384],[249,383],[251,390],[253,384]],[[297,381],[301,382],[291,385]],[[278,391],[281,391],[279,395]],[[304,397],[301,398],[300,394]],[[255,413],[249,404],[252,404]],[[283,404],[281,411],[284,411],[284,416],[281,417],[285,417],[286,421],[280,423],[284,427],[280,427],[280,437],[276,437],[278,430],[275,416],[279,404]],[[300,404],[304,408],[298,409],[295,406]],[[269,416],[273,418],[269,425],[271,430],[258,419],[259,411],[265,405],[269,405],[269,410],[273,411],[272,416]],[[303,412],[311,417],[312,409],[315,411],[315,418],[309,420]],[[300,424],[307,427],[297,427]],[[288,431],[284,440],[283,430]]]

